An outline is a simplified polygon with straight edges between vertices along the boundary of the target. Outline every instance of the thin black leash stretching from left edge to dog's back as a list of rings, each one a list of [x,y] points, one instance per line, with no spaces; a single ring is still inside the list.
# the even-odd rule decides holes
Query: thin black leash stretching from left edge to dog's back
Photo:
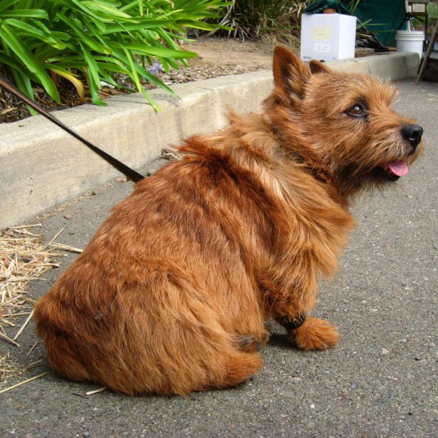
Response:
[[[60,128],[62,128],[64,131],[67,131],[71,136],[74,138],[77,138],[78,141],[81,141],[84,145],[88,146],[88,148],[91,149],[91,151],[96,152],[98,156],[103,158],[105,161],[110,163],[114,168],[116,168],[119,172],[123,173],[123,175],[126,176],[129,180],[133,181],[134,183],[137,183],[139,180],[142,180],[144,178],[141,173],[136,172],[136,170],[133,170],[129,168],[127,165],[121,163],[121,161],[118,161],[113,156],[109,155],[105,151],[102,151],[97,146],[94,146],[93,143],[90,143],[85,138],[81,137],[76,132],[72,131],[68,126],[64,125],[61,121],[59,121],[56,117],[52,116],[51,113],[48,113],[45,111],[41,106],[39,106],[34,101],[31,101],[29,97],[21,93],[21,91],[17,90],[15,86],[13,86],[9,81],[6,81],[5,78],[2,78],[0,76],[0,85],[6,88],[10,93],[14,94],[14,96],[18,97],[21,101],[26,103],[27,105],[31,106],[31,108],[34,108],[35,111],[38,111],[42,116],[49,119],[49,121],[52,121],[56,125],[58,125]]]

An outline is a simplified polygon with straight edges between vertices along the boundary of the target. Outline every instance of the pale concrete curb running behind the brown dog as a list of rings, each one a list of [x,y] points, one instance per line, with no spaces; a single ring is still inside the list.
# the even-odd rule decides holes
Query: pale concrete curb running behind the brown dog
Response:
[[[393,81],[415,75],[417,54],[393,53],[333,61],[348,73],[371,73]],[[270,71],[223,76],[174,86],[180,99],[151,94],[155,113],[141,94],[116,96],[108,106],[83,105],[55,116],[123,163],[141,168],[161,149],[193,133],[225,126],[224,106],[258,111],[273,86]],[[42,116],[0,125],[0,229],[115,178],[118,172]]]

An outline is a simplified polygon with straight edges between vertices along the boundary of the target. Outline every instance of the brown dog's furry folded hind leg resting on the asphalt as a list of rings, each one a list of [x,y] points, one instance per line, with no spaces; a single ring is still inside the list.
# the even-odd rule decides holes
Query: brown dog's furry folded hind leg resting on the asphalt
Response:
[[[210,306],[167,286],[159,305],[123,302],[128,317],[115,329],[112,354],[93,361],[94,380],[127,394],[170,396],[235,387],[260,371],[255,337],[236,335]]]

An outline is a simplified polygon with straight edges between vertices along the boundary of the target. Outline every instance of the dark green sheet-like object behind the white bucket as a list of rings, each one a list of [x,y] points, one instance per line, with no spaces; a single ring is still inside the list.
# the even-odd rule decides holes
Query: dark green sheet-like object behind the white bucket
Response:
[[[352,1],[344,0],[342,4],[348,8]],[[352,14],[362,23],[371,20],[367,29],[384,46],[395,46],[395,32],[405,20],[404,0],[360,0]]]

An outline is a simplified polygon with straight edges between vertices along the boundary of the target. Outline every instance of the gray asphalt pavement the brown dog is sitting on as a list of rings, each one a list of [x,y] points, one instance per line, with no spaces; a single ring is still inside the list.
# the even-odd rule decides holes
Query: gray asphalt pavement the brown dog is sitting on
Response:
[[[340,326],[337,347],[301,352],[278,328],[252,382],[173,398],[108,390],[86,398],[97,385],[63,380],[43,363],[9,384],[48,375],[0,394],[0,436],[438,437],[438,83],[398,86],[395,107],[424,127],[427,150],[409,175],[353,208],[357,228],[342,270],[323,282],[314,312]],[[96,188],[46,219],[42,233],[50,239],[64,227],[58,241],[83,248],[131,190]],[[44,295],[73,258],[34,282],[31,297]],[[20,339],[14,359],[43,357],[41,345],[26,357],[33,326]]]

